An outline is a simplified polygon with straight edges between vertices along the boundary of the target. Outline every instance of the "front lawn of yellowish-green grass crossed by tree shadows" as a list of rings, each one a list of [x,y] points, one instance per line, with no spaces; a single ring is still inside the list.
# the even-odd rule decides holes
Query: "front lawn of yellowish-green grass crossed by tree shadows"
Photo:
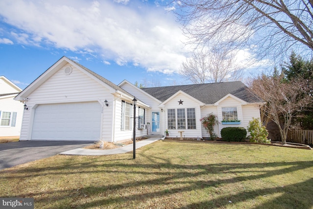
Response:
[[[0,197],[35,208],[311,209],[313,152],[157,141],[133,154],[58,155],[0,171]]]

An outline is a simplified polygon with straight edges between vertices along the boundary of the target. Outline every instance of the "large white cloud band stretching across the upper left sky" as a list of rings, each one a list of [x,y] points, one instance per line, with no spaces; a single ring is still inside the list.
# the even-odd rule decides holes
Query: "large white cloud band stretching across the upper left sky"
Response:
[[[1,0],[0,15],[20,29],[11,36],[23,45],[52,45],[99,56],[104,63],[179,71],[188,49],[174,15],[145,2],[115,1]]]

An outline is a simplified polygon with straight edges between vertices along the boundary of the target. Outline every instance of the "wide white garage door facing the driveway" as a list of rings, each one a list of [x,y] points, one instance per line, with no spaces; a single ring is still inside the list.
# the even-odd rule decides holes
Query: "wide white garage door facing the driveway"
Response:
[[[99,102],[39,105],[35,110],[33,140],[99,140]]]

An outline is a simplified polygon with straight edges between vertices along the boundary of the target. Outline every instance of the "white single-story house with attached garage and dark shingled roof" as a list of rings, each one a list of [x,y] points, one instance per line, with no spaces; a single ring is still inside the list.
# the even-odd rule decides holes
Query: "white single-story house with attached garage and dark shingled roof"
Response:
[[[133,138],[148,133],[170,137],[207,137],[200,119],[209,113],[236,117],[246,127],[260,117],[260,100],[242,82],[139,89],[124,80],[118,86],[62,57],[16,96],[27,105],[20,140],[99,140]],[[216,133],[229,125],[220,124]],[[149,131],[147,128],[149,128]]]

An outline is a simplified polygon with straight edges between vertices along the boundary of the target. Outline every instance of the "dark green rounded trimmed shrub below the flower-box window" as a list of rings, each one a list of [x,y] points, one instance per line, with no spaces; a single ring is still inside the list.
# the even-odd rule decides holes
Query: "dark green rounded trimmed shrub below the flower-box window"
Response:
[[[245,141],[246,129],[244,127],[226,127],[221,130],[225,141]]]

